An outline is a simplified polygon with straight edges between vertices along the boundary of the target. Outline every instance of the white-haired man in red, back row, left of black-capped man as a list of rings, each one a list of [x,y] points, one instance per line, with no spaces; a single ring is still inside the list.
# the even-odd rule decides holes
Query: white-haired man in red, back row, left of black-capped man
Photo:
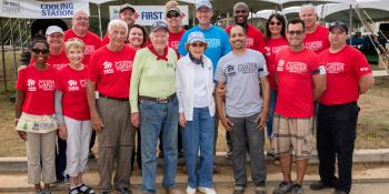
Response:
[[[328,29],[317,23],[318,13],[315,6],[311,3],[303,4],[299,16],[306,24],[305,47],[317,54],[328,49]]]

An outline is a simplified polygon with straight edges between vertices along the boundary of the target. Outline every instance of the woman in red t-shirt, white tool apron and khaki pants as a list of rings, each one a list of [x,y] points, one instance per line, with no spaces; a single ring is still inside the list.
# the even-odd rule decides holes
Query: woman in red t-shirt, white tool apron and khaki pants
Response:
[[[46,63],[49,58],[49,44],[44,37],[36,37],[30,49],[34,59],[33,65],[19,71],[16,85],[16,130],[26,141],[28,183],[34,184],[37,193],[51,193],[50,183],[57,180],[58,124],[53,116],[57,70]],[[44,183],[43,191],[41,181]]]

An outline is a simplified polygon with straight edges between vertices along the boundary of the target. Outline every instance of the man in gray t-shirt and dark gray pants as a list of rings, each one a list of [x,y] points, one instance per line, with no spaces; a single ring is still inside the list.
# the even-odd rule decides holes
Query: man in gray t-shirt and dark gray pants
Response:
[[[268,70],[263,55],[246,48],[246,34],[242,27],[231,28],[229,41],[232,51],[219,60],[215,80],[217,91],[227,88],[226,111],[223,96],[219,94],[221,92],[218,92],[216,101],[221,123],[229,131],[232,141],[235,193],[243,193],[247,185],[247,144],[256,193],[266,193],[263,129],[270,96]]]

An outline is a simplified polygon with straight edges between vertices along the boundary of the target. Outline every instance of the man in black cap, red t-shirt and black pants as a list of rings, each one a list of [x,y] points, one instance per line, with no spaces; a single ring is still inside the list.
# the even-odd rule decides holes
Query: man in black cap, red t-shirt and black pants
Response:
[[[320,99],[318,112],[320,181],[310,187],[335,187],[335,193],[348,194],[351,188],[352,152],[359,112],[357,100],[373,85],[375,80],[366,57],[346,44],[346,23],[337,21],[329,29],[330,48],[319,54],[327,71],[327,90]],[[336,160],[338,177],[335,176]]]

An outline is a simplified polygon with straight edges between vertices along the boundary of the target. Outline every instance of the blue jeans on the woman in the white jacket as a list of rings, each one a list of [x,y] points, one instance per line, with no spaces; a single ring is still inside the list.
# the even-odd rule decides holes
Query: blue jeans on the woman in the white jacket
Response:
[[[212,187],[213,173],[213,118],[208,108],[194,108],[193,120],[187,121],[182,129],[182,146],[188,172],[188,185]],[[197,169],[197,157],[200,149],[200,170]]]

